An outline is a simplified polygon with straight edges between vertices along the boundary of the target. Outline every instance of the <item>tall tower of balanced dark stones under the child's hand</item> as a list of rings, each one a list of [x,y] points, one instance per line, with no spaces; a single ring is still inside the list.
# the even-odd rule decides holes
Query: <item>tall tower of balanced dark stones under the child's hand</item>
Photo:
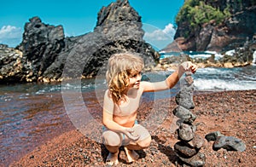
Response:
[[[190,112],[190,109],[195,108],[193,101],[195,86],[191,73],[186,72],[185,75],[183,87],[176,95],[177,107],[173,110],[173,114],[179,118],[177,120],[179,128],[176,130],[179,141],[174,145],[174,150],[182,164],[203,166],[206,157],[200,153],[200,150],[204,145],[204,139],[195,134],[196,125],[193,123],[196,116]]]

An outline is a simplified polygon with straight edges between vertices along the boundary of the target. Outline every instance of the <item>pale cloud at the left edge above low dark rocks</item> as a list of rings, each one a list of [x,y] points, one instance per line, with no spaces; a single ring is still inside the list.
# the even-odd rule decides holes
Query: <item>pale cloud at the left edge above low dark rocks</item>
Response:
[[[21,42],[22,30],[16,26],[3,26],[0,29],[0,43],[15,47]]]

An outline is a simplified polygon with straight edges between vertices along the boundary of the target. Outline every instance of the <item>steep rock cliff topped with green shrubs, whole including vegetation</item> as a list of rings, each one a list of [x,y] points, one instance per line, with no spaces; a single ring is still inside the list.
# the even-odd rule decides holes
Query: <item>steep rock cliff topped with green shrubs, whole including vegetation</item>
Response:
[[[176,22],[174,43],[181,50],[221,52],[236,49],[256,37],[256,2],[186,0]],[[163,50],[172,51],[174,43]]]

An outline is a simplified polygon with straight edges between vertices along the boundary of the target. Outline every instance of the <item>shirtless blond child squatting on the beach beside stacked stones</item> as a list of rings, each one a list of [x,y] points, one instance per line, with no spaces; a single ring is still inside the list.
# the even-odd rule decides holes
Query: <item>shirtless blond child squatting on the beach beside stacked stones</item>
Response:
[[[137,108],[143,92],[171,89],[186,71],[195,73],[197,66],[190,61],[178,66],[165,81],[141,82],[143,59],[129,53],[115,54],[108,60],[108,90],[103,102],[103,144],[109,154],[107,164],[118,164],[119,147],[124,146],[128,162],[139,158],[134,150],[147,148],[151,135],[137,124]]]

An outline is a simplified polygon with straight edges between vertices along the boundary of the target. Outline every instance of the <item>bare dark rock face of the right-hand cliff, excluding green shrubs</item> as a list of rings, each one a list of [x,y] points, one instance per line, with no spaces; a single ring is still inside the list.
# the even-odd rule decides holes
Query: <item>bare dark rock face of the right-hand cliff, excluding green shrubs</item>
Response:
[[[253,41],[256,34],[256,3],[255,1],[218,0],[201,1],[187,0],[185,3],[203,2],[224,13],[228,9],[230,16],[219,23],[209,20],[197,26],[191,25],[191,18],[177,23],[175,42],[181,50],[193,51],[226,51],[243,47],[244,43]],[[183,17],[186,18],[186,17]],[[254,45],[254,44],[252,44]],[[171,51],[173,43],[165,51]]]

